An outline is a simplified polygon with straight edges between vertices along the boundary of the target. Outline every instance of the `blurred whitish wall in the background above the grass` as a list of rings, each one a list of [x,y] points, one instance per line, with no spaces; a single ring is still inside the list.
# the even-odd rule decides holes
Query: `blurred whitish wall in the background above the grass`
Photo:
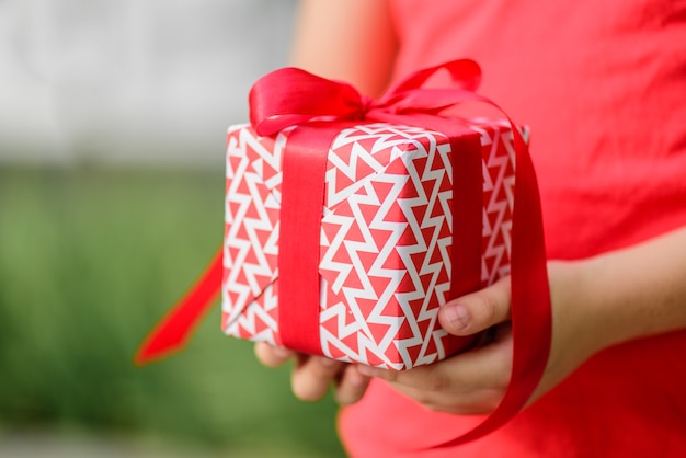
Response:
[[[295,0],[0,0],[0,163],[222,165]]]

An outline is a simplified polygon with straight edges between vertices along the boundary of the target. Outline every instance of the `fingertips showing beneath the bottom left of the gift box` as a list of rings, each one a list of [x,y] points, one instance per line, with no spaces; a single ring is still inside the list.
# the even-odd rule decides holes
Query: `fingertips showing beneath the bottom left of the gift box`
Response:
[[[255,355],[268,367],[281,366],[295,358],[291,376],[293,392],[304,401],[321,399],[333,385],[334,397],[340,404],[359,401],[369,385],[369,377],[362,375],[357,366],[320,356],[309,356],[266,343],[255,344]]]

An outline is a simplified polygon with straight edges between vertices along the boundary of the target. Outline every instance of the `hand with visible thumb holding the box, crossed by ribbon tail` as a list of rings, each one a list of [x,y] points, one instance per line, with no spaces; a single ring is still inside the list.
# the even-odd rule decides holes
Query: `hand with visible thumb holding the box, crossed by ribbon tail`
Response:
[[[584,305],[578,304],[579,266],[550,263],[553,332],[550,356],[534,399],[558,385],[598,351],[604,340],[588,332]],[[359,371],[390,382],[398,391],[431,410],[485,414],[502,400],[512,370],[510,278],[448,302],[439,312],[442,327],[454,335],[492,330],[490,343],[428,366],[407,371],[358,366]]]

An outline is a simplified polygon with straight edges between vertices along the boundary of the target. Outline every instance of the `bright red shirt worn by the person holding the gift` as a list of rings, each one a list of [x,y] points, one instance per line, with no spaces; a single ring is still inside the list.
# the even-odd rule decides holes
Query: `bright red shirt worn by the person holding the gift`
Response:
[[[396,78],[460,57],[531,129],[550,259],[686,225],[686,2],[391,0]],[[686,278],[685,278],[686,280]],[[686,331],[608,348],[502,430],[422,456],[685,457]],[[416,456],[480,419],[375,380],[342,411],[353,456]]]

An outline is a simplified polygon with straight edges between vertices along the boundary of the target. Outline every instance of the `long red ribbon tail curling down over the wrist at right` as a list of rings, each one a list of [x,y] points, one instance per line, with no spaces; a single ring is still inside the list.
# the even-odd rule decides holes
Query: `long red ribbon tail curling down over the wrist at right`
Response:
[[[475,94],[473,100],[500,110],[488,99]],[[552,316],[538,182],[528,148],[514,123],[506,118],[512,126],[515,148],[511,257],[513,364],[510,386],[500,405],[482,423],[459,437],[431,448],[465,444],[503,426],[524,409],[548,364]]]

